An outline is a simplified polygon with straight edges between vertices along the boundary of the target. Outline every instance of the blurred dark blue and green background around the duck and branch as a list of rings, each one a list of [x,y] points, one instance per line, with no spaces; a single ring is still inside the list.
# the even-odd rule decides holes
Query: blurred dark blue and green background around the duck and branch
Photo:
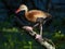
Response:
[[[43,26],[43,37],[51,39],[56,49],[65,49],[65,0],[0,0],[0,49],[46,49],[15,26],[14,11],[23,3],[29,10],[46,11],[53,16],[52,22]]]

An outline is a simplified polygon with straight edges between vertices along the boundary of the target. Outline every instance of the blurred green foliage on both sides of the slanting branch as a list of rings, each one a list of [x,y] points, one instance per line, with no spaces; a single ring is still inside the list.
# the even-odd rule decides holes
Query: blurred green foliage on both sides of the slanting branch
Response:
[[[10,20],[8,19],[5,22],[0,24],[0,49],[40,49],[40,48],[42,49],[43,48],[34,38],[31,38],[31,36],[27,35],[26,32],[12,26],[13,23],[11,21],[12,19],[13,16],[11,16]],[[43,36],[52,39],[56,46],[56,49],[65,49],[64,47],[65,35],[60,28],[57,28],[57,26],[63,27],[63,25],[62,24],[58,25],[56,21],[53,21],[52,25],[55,27],[55,29],[51,32],[49,30],[48,27],[48,29],[43,32]]]

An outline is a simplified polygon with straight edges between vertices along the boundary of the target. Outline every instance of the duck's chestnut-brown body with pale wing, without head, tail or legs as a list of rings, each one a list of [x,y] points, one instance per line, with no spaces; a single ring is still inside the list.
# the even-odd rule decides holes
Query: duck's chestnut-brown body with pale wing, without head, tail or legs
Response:
[[[47,14],[39,10],[31,10],[31,11],[28,11],[26,14],[26,19],[31,22],[36,22],[37,17],[46,19]]]

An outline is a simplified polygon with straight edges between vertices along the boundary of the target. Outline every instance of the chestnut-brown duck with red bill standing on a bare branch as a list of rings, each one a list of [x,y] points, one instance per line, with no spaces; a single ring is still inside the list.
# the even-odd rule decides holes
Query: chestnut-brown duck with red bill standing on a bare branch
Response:
[[[47,12],[40,11],[40,10],[30,10],[28,11],[28,8],[25,4],[20,5],[18,10],[15,11],[15,13],[18,13],[21,11],[25,11],[25,17],[30,22],[38,22],[40,21],[40,35],[42,35],[42,22],[43,19],[51,17],[51,15]]]

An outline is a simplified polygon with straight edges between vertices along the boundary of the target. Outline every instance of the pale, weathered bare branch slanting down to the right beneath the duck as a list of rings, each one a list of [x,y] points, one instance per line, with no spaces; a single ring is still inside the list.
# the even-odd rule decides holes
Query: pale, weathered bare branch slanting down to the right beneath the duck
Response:
[[[47,49],[55,49],[55,46],[50,42],[47,41],[47,39],[42,38],[39,34],[37,34],[36,32],[34,30],[27,30],[26,27],[23,27],[26,32],[28,32],[28,34],[32,37],[35,37],[35,39],[42,46],[44,46]],[[38,36],[38,38],[36,38],[36,36]],[[49,39],[48,39],[49,40]]]

